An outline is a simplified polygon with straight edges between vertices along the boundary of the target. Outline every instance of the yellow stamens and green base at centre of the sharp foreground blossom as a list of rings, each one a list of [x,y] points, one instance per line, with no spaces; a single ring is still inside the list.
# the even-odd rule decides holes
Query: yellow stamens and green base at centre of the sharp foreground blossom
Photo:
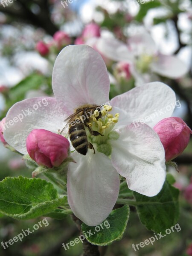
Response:
[[[108,135],[113,130],[115,124],[118,122],[119,113],[113,114],[109,113],[112,111],[112,107],[109,105],[104,105],[101,114],[98,110],[95,110],[93,115],[90,117],[89,126],[93,131],[98,131],[101,135],[91,136],[88,135],[88,138],[92,143],[98,145],[107,143]],[[101,116],[98,118],[98,116]]]

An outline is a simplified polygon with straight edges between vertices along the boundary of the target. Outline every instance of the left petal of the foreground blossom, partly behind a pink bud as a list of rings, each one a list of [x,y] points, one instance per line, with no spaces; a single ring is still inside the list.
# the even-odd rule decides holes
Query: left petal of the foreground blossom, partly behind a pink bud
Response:
[[[26,138],[32,130],[58,133],[64,127],[66,117],[55,98],[38,97],[17,102],[6,116],[5,140],[20,153],[27,154]]]

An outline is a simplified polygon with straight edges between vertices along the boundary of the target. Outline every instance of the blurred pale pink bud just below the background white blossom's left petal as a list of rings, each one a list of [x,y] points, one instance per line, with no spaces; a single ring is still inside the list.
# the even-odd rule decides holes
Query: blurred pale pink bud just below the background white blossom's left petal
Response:
[[[131,78],[130,64],[127,62],[119,62],[115,68],[115,76],[119,79],[129,80]]]

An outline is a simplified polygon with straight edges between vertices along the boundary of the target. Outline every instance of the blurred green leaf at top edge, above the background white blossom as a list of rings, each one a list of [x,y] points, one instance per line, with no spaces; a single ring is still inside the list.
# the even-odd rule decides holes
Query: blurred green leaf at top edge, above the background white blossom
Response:
[[[137,16],[135,17],[135,20],[137,20],[139,22],[142,22],[143,18],[145,17],[145,15],[148,12],[148,10],[161,6],[161,3],[158,0],[155,0],[155,1],[149,2],[149,3],[145,2],[144,4],[141,4],[141,2],[145,2],[145,0],[140,0],[140,10],[139,10]]]

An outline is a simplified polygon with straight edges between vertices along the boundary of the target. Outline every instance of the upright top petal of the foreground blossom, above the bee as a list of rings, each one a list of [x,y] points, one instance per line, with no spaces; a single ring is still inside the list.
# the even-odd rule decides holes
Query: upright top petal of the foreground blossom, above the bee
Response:
[[[52,75],[55,97],[65,113],[109,100],[110,81],[101,55],[87,45],[71,45],[58,55]]]

